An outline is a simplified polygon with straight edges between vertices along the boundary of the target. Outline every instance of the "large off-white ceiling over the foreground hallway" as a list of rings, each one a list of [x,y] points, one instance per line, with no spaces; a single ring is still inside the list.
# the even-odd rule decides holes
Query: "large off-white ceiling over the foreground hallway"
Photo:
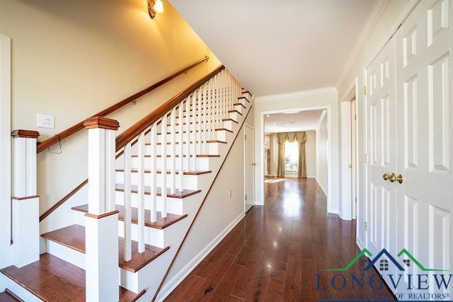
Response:
[[[338,84],[385,0],[169,0],[256,96]]]

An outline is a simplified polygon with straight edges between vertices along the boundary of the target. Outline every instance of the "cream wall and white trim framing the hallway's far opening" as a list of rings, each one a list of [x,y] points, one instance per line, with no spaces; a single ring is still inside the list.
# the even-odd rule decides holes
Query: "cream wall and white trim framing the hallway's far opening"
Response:
[[[304,91],[299,93],[287,93],[284,95],[270,95],[256,98],[255,103],[255,132],[256,132],[256,158],[257,171],[260,173],[256,178],[256,196],[259,204],[264,203],[264,115],[284,112],[287,110],[314,110],[326,108],[328,110],[328,212],[338,213],[339,209],[339,158],[338,158],[338,95],[335,88],[323,88],[316,91]],[[259,146],[259,147],[258,147]],[[259,159],[258,159],[259,158]]]

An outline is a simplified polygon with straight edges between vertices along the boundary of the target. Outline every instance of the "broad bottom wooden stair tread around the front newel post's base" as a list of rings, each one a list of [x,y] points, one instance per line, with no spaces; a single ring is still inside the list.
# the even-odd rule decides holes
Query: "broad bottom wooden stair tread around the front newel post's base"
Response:
[[[45,302],[84,302],[85,270],[50,254],[18,268],[5,267],[0,272]],[[134,294],[119,286],[120,302],[132,302],[144,294]]]

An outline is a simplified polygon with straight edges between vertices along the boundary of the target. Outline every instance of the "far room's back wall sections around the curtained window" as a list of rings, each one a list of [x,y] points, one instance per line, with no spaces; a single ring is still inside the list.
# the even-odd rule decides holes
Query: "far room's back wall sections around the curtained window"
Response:
[[[305,156],[306,177],[316,178],[316,133],[314,130],[306,131]],[[277,134],[270,135],[270,175],[277,175],[278,139]],[[287,177],[297,177],[297,173],[285,173]]]

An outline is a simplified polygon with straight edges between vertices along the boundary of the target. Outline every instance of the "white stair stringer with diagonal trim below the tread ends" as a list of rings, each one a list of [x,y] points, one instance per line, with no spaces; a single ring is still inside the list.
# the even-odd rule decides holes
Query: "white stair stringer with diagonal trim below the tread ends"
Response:
[[[248,99],[251,99],[251,97],[249,97]],[[134,291],[135,293],[142,291],[142,289],[146,290],[145,294],[141,296],[138,301],[151,301],[151,299],[156,298],[159,288],[163,284],[168,271],[171,269],[173,262],[178,256],[178,252],[183,245],[185,237],[188,235],[191,226],[193,226],[193,221],[197,219],[197,214],[200,212],[203,202],[207,199],[208,194],[210,194],[212,185],[217,182],[217,176],[224,167],[226,158],[229,158],[229,153],[232,147],[234,146],[236,141],[242,141],[241,139],[239,139],[239,134],[243,129],[243,124],[246,120],[246,116],[252,108],[251,103],[246,102],[244,105],[246,105],[247,107],[246,113],[244,113],[241,119],[238,120],[237,124],[231,124],[231,130],[233,131],[233,133],[229,134],[228,139],[226,140],[227,144],[222,144],[223,146],[221,146],[221,148],[219,149],[220,157],[210,158],[209,170],[212,170],[212,173],[210,173],[208,177],[204,179],[205,182],[200,183],[199,190],[201,190],[201,192],[194,195],[197,199],[197,202],[195,202],[195,204],[191,206],[192,210],[186,213],[188,214],[188,217],[183,219],[183,221],[185,222],[180,224],[180,221],[176,224],[176,227],[179,230],[179,235],[175,234],[171,238],[171,243],[168,242],[170,249],[164,252],[163,255],[156,258],[156,260],[153,260],[148,265],[140,269],[139,272],[120,272],[121,286],[124,286],[125,288]],[[243,159],[241,158],[241,162],[242,161]],[[241,194],[241,198],[243,199],[243,194]],[[241,218],[242,216],[243,214],[241,214]],[[240,219],[236,220],[239,221]],[[180,226],[178,226],[179,224]],[[166,238],[168,237],[169,236],[166,236]]]

